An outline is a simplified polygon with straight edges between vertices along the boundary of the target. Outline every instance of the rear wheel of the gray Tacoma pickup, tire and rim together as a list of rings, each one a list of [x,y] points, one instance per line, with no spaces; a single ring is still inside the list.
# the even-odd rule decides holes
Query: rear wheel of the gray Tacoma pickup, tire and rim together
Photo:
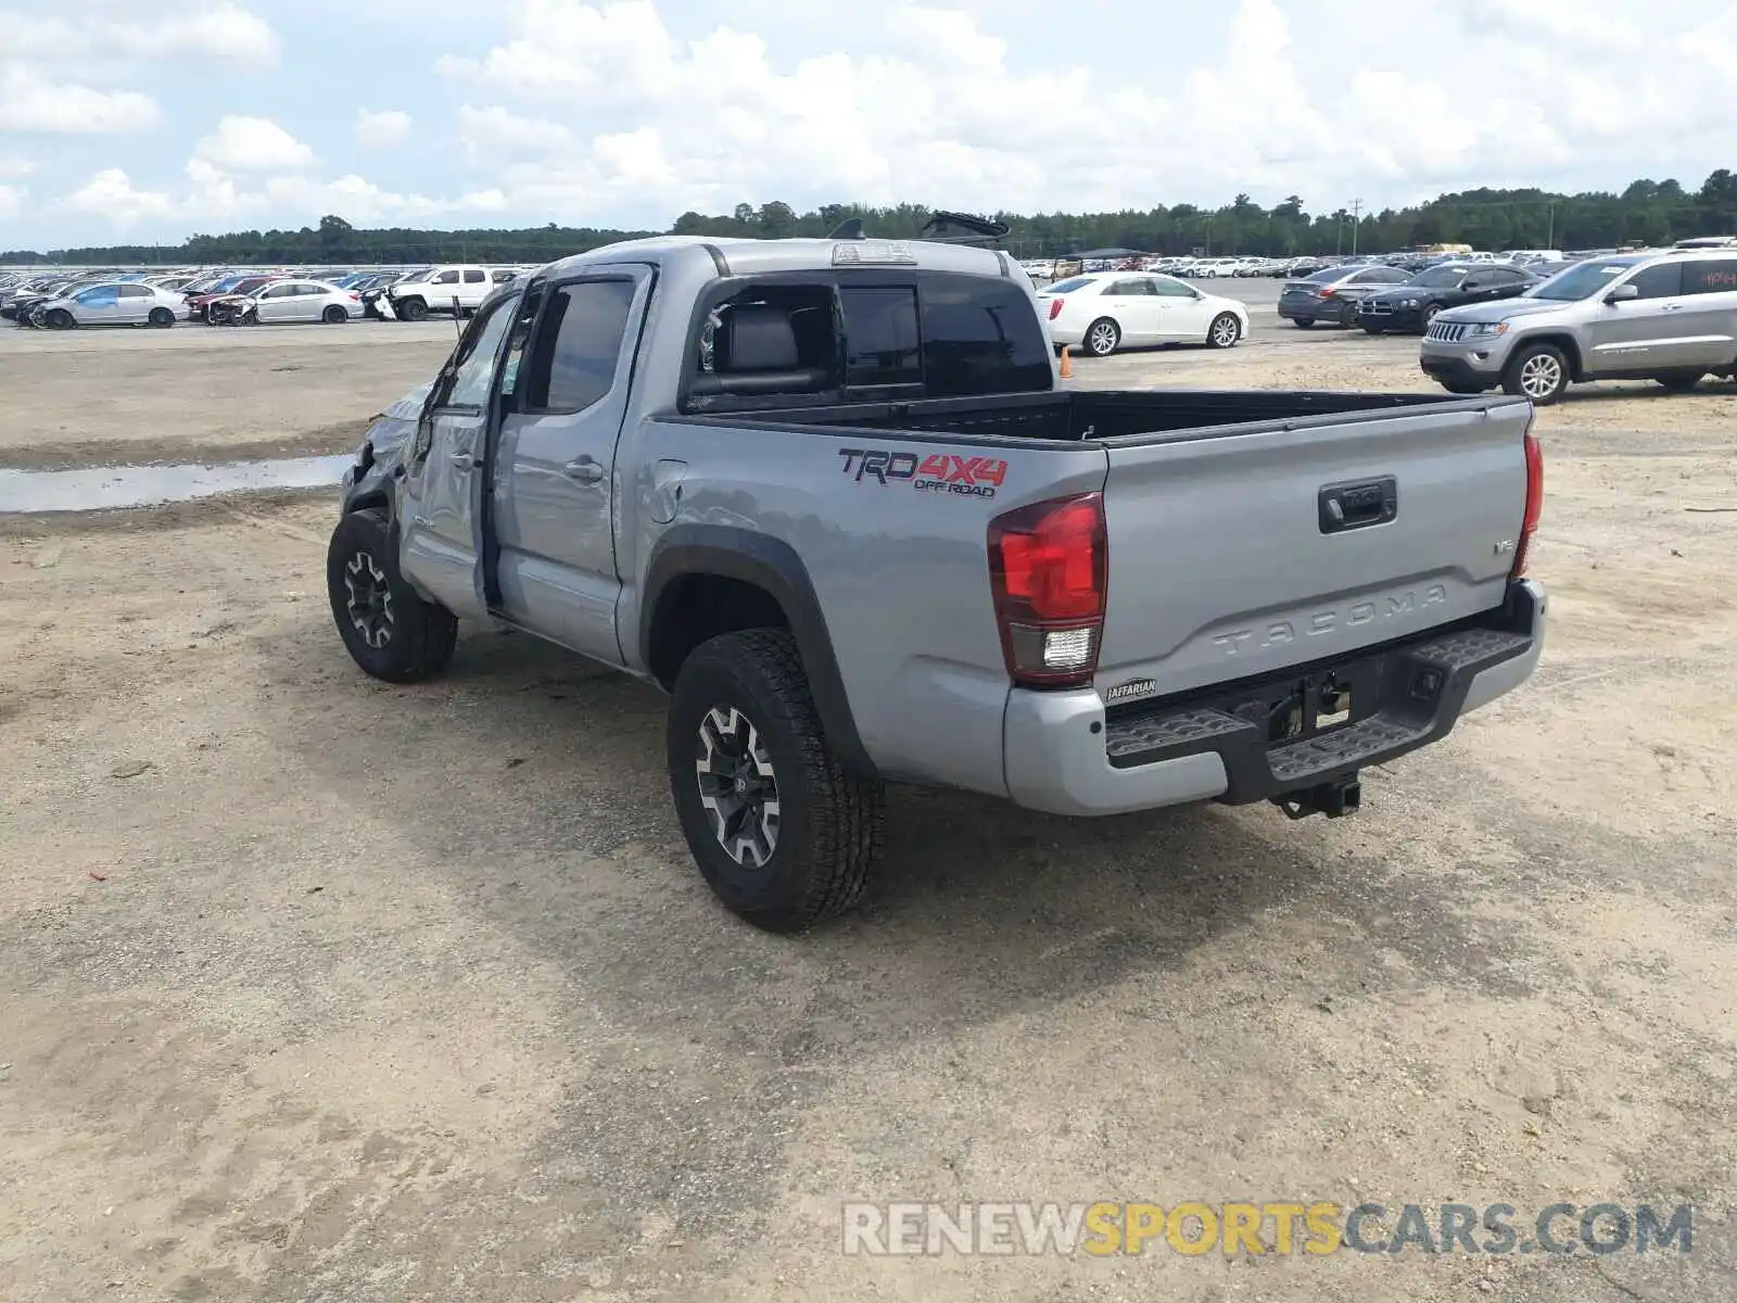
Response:
[[[792,933],[862,896],[886,796],[827,745],[789,632],[695,648],[676,676],[665,756],[688,850],[733,914]]]

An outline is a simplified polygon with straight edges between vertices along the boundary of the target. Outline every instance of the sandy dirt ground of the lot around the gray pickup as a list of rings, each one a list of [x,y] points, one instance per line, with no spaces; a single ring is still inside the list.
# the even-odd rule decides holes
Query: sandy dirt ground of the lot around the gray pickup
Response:
[[[1080,380],[1421,387],[1414,342],[1291,334]],[[443,347],[380,341],[5,353],[14,417],[129,377],[7,457],[200,443],[193,375],[354,426]],[[483,632],[365,679],[328,500],[0,519],[0,1300],[1737,1298],[1734,417],[1539,417],[1544,664],[1355,818],[898,790],[867,907],[797,940],[693,870],[657,693]],[[907,1199],[1699,1220],[1692,1254],[841,1253],[841,1200]]]

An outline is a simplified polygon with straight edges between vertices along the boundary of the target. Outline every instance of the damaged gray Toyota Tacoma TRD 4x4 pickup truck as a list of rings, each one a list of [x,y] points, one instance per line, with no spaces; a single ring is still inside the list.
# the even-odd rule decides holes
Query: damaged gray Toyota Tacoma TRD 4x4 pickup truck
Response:
[[[469,618],[667,690],[700,870],[794,931],[862,893],[888,782],[1355,810],[1537,662],[1530,422],[1065,389],[992,248],[641,240],[483,304],[370,429],[327,580],[382,679]]]

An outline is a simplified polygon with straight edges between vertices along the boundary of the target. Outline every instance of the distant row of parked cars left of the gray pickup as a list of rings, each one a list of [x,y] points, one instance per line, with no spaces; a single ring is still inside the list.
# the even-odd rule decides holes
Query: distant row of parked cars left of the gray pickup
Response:
[[[525,268],[429,266],[368,271],[85,271],[0,276],[0,318],[19,327],[342,323],[360,316],[420,321],[469,316]]]

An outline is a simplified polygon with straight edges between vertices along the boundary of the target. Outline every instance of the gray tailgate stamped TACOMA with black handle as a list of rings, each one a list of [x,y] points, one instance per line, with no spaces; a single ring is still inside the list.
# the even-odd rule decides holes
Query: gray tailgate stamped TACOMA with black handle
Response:
[[[1106,441],[1100,693],[1186,691],[1499,606],[1529,420],[1522,400],[1447,400]]]

